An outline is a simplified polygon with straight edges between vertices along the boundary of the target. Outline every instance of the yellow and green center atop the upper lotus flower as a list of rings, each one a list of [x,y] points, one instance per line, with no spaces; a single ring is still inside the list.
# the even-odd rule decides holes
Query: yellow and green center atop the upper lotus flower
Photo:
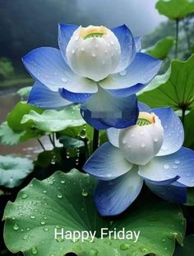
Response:
[[[104,26],[89,26],[82,27],[80,36],[85,40],[91,37],[102,37],[107,34],[107,30]]]

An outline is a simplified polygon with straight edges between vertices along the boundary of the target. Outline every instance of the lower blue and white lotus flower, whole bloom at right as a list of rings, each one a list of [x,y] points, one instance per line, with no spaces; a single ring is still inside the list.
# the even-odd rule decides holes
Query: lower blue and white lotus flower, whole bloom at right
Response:
[[[194,151],[182,147],[182,123],[169,107],[140,104],[136,126],[108,130],[109,142],[85,163],[84,170],[100,181],[95,204],[102,216],[126,210],[146,185],[159,197],[176,203],[187,201],[194,187]]]

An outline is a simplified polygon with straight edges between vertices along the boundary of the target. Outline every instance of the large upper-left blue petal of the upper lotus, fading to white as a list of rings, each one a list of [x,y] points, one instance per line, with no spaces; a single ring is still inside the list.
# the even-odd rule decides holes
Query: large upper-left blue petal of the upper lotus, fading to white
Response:
[[[95,93],[98,90],[96,83],[72,72],[58,49],[41,47],[30,51],[22,60],[32,77],[52,91],[65,88],[70,92]]]

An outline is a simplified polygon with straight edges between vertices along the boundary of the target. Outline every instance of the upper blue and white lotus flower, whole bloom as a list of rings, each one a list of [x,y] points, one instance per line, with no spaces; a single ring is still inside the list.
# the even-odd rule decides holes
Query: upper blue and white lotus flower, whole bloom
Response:
[[[60,50],[41,47],[22,59],[36,81],[29,103],[47,109],[81,103],[81,115],[98,130],[136,124],[135,93],[161,64],[140,52],[140,37],[127,26],[60,24],[58,45]]]

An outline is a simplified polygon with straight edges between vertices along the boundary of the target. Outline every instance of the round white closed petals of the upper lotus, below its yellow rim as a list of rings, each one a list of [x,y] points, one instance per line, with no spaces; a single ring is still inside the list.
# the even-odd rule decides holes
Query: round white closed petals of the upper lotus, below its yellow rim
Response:
[[[86,29],[93,28],[95,26]],[[84,28],[79,27],[67,45],[67,63],[81,77],[99,81],[118,67],[121,55],[118,38],[109,29],[104,29],[103,36],[85,39],[81,36]]]

